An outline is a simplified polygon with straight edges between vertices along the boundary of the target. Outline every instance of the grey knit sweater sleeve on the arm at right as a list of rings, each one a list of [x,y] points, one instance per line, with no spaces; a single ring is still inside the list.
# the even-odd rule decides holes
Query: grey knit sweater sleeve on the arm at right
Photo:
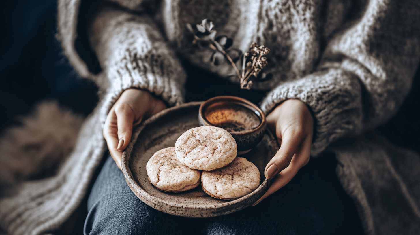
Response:
[[[280,84],[262,102],[270,112],[286,99],[312,110],[311,154],[331,142],[384,123],[409,92],[419,62],[415,1],[371,0],[356,23],[328,43],[317,71]]]

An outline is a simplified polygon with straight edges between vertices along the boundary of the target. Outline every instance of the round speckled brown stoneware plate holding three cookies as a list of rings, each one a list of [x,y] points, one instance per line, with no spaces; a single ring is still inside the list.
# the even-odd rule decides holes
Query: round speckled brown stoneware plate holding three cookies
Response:
[[[276,154],[279,146],[270,131],[249,153],[241,155],[254,163],[261,174],[261,185],[254,192],[234,201],[212,198],[201,186],[182,192],[165,193],[157,190],[146,174],[146,163],[163,148],[175,146],[176,139],[185,131],[200,126],[198,109],[201,102],[190,102],[172,107],[147,119],[135,128],[133,138],[123,152],[122,168],[131,191],[147,205],[168,214],[182,217],[215,217],[246,208],[257,201],[270,187],[273,179],[264,177],[265,165]]]

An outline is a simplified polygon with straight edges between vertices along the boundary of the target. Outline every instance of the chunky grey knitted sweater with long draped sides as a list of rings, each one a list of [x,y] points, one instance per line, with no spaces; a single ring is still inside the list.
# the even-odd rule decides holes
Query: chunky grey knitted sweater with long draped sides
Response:
[[[5,231],[42,234],[70,216],[104,154],[102,127],[122,91],[137,87],[169,105],[183,102],[185,73],[177,56],[239,86],[230,64],[212,65],[210,49],[192,46],[185,24],[210,18],[218,34],[233,39],[232,47],[245,52],[257,42],[270,48],[263,71],[267,79],[252,86],[270,91],[262,110],[269,113],[286,99],[308,105],[315,120],[311,155],[336,154],[337,174],[356,203],[365,233],[420,232],[419,157],[374,134],[360,136],[394,115],[410,89],[420,58],[419,2],[110,2],[88,7],[81,0],[59,1],[64,52],[82,77],[97,82],[102,100],[57,175],[18,185],[13,196],[0,200]],[[100,72],[87,59],[89,45]]]

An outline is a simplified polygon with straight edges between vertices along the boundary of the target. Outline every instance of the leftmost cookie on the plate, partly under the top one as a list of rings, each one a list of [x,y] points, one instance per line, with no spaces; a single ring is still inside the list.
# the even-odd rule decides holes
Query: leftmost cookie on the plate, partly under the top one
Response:
[[[181,164],[176,158],[175,148],[160,149],[146,164],[147,177],[157,189],[179,193],[196,188],[200,182],[201,171]]]

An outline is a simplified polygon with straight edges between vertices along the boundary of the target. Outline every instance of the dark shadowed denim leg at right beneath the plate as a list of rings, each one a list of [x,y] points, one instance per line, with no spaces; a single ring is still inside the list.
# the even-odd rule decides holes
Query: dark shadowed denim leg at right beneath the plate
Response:
[[[318,173],[317,161],[311,159],[289,184],[260,204],[209,219],[207,234],[343,234],[346,214],[352,211],[344,192]]]

